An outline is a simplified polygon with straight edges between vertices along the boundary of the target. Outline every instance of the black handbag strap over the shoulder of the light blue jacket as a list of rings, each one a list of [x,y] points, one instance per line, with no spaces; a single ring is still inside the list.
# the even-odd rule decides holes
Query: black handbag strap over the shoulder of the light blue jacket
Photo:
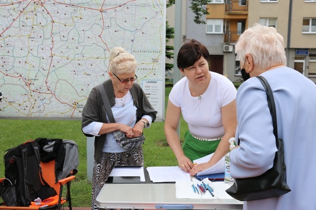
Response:
[[[271,87],[270,87],[268,81],[266,81],[266,79],[263,76],[258,76],[257,78],[259,79],[259,81],[261,81],[261,83],[265,89],[266,97],[268,100],[268,106],[269,106],[270,113],[272,116],[273,133],[274,133],[276,139],[278,139],[277,112],[276,112],[275,101],[274,101]]]

